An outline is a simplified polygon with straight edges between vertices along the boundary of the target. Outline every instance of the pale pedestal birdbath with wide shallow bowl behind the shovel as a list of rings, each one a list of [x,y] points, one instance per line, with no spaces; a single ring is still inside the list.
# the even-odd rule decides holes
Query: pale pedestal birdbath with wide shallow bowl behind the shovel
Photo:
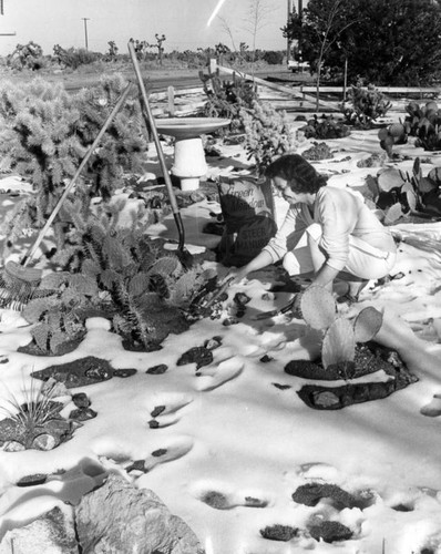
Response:
[[[181,178],[182,191],[196,191],[199,178],[207,173],[201,135],[229,125],[218,117],[171,117],[155,120],[158,133],[174,136],[175,155],[172,174]]]

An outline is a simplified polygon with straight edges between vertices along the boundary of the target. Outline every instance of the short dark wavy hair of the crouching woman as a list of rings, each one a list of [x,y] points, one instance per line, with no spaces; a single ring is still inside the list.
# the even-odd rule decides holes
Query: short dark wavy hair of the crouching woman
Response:
[[[312,165],[299,154],[286,154],[268,165],[268,178],[281,177],[295,193],[317,193],[326,185],[327,178],[317,173]]]

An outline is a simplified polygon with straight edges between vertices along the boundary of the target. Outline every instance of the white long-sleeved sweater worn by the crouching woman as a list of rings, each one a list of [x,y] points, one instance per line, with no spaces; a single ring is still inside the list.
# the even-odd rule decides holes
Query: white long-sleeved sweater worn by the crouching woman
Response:
[[[396,252],[389,230],[368,208],[362,197],[350,189],[324,186],[310,207],[295,204],[288,209],[276,236],[264,248],[270,254],[273,263],[295,248],[305,229],[312,223],[321,226],[319,245],[328,255],[327,265],[339,271],[348,259],[350,235],[386,253]]]

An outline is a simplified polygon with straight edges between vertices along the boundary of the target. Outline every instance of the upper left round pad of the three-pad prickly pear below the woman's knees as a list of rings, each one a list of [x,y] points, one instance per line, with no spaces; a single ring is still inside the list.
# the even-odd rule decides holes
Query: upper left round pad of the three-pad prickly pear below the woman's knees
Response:
[[[336,300],[326,288],[309,287],[298,298],[295,308],[312,329],[327,329],[336,319]]]

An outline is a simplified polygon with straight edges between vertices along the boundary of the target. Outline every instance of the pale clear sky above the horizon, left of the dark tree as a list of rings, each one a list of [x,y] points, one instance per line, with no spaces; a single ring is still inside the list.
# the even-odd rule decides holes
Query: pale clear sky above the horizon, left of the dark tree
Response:
[[[165,34],[166,52],[196,51],[218,42],[230,49],[240,42],[252,47],[249,12],[256,1],[261,3],[256,48],[285,49],[280,28],[286,23],[287,0],[224,0],[209,27],[218,0],[4,0],[0,33],[16,35],[0,37],[0,55],[31,40],[44,54],[51,54],[54,44],[84,48],[85,37],[89,50],[105,52],[113,40],[122,53],[130,38],[155,43],[155,33]]]

